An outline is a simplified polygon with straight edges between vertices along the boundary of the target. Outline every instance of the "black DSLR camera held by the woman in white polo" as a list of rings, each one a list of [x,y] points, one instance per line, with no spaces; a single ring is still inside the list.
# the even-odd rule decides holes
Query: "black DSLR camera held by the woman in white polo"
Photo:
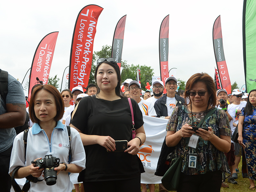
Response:
[[[44,180],[46,185],[56,184],[57,171],[55,171],[54,168],[60,165],[59,158],[46,155],[43,159],[37,159],[36,161],[31,161],[31,163],[36,164],[36,167],[39,167],[39,169],[44,168]]]

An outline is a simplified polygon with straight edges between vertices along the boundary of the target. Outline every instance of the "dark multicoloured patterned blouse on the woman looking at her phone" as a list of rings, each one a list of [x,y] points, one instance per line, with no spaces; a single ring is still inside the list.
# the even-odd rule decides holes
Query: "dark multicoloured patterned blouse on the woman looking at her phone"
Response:
[[[205,114],[209,112],[202,111],[197,114],[193,114],[194,126],[197,126],[199,122],[204,118]],[[174,109],[169,122],[166,126],[166,131],[179,131],[181,127],[188,123],[192,125],[191,112],[187,106],[182,106],[178,112],[178,107]],[[226,113],[223,110],[217,109],[210,117],[208,117],[201,127],[211,127],[213,133],[220,137],[220,135],[231,136],[231,129],[229,127],[229,121]],[[189,138],[181,138],[178,145],[175,147],[175,157],[179,157],[184,153],[184,148],[189,142]],[[188,167],[189,155],[196,156],[196,168]],[[181,172],[187,175],[204,174],[206,172],[218,171],[230,173],[228,167],[228,161],[224,152],[219,151],[212,145],[210,141],[205,141],[199,137],[197,148],[189,149],[185,154],[182,164]]]

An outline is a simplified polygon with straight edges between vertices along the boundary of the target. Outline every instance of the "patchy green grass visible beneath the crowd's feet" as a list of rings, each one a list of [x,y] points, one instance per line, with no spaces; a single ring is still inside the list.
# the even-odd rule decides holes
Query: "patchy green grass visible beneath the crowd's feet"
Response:
[[[240,161],[238,168],[240,170],[240,173],[238,173],[238,179],[236,181],[238,182],[237,185],[231,184],[228,182],[228,179],[226,179],[226,183],[228,184],[229,188],[221,188],[221,192],[246,192],[251,191],[249,190],[250,181],[248,178],[243,178],[242,176],[242,160]],[[209,186],[210,187],[210,186]],[[73,190],[72,192],[75,192]],[[149,189],[147,189],[147,192],[150,192]],[[159,192],[159,186],[158,184],[155,185],[155,192]]]

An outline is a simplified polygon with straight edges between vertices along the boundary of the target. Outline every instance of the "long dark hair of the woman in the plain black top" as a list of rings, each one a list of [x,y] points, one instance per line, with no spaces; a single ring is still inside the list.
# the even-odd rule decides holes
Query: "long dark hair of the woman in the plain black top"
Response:
[[[120,69],[119,69],[118,65],[116,64],[116,62],[115,62],[115,63],[112,63],[112,62],[108,62],[107,60],[103,61],[102,63],[106,63],[106,64],[110,65],[111,67],[113,67],[113,68],[115,69],[116,75],[117,75],[117,80],[118,80],[117,85],[116,85],[116,95],[117,95],[118,97],[124,98],[124,95],[123,95],[123,93],[122,93],[122,91],[121,91],[121,82],[122,82],[122,80],[121,80],[121,74],[120,74]],[[95,74],[94,74],[95,82],[97,82],[97,72],[98,72],[98,68],[99,68],[99,66],[100,66],[102,63],[99,63],[98,66],[97,66],[96,69],[95,69]],[[97,84],[97,85],[98,85],[98,84]],[[99,92],[100,92],[100,87],[98,86],[97,94],[99,94]]]

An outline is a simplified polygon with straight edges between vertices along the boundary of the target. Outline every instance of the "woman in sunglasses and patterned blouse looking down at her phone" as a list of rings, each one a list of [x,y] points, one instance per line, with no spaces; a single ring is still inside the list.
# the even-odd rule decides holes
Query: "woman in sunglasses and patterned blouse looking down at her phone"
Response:
[[[231,146],[231,130],[226,113],[216,109],[204,119],[216,105],[215,84],[211,76],[197,73],[188,79],[185,89],[185,100],[188,105],[176,107],[166,127],[166,145],[175,146],[175,157],[185,152],[178,192],[180,191],[220,191],[222,172],[228,172],[228,163],[224,152]],[[201,127],[192,131],[191,126]],[[192,146],[189,142],[196,141]],[[191,166],[191,161],[195,161]],[[186,185],[184,185],[186,184]]]

